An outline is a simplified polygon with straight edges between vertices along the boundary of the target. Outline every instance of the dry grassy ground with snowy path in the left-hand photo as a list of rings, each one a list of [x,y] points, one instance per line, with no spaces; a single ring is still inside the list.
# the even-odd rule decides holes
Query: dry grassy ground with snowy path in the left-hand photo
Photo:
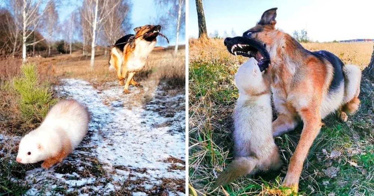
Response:
[[[26,65],[0,61],[0,195],[184,193],[186,56],[183,47],[176,57],[173,52],[154,50],[134,77],[143,88],[131,86],[130,94],[108,71],[103,51],[96,52],[93,69],[80,51],[29,58]],[[18,164],[21,137],[65,98],[88,106],[85,139],[51,169]]]

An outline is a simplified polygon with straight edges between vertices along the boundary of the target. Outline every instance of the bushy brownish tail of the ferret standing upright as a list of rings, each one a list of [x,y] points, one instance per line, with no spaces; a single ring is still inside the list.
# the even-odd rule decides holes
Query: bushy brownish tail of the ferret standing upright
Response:
[[[223,171],[218,179],[215,181],[215,186],[221,186],[235,180],[241,175],[249,174],[257,165],[258,159],[253,157],[238,157],[229,164],[225,171]]]

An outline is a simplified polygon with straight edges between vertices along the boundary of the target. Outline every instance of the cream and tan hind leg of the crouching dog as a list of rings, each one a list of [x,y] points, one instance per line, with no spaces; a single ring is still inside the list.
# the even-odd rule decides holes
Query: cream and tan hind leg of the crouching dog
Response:
[[[344,72],[344,99],[343,99],[343,111],[352,114],[355,113],[359,106],[360,100],[358,95],[360,94],[361,84],[361,70],[357,65],[345,65],[343,68]]]

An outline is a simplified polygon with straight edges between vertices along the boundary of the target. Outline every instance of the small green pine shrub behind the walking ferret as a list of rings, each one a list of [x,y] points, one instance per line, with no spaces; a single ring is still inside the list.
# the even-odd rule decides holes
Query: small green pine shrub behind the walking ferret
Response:
[[[39,83],[39,77],[34,63],[21,66],[21,77],[13,79],[13,87],[19,95],[18,106],[22,117],[27,121],[42,122],[49,106],[56,103],[47,85]]]

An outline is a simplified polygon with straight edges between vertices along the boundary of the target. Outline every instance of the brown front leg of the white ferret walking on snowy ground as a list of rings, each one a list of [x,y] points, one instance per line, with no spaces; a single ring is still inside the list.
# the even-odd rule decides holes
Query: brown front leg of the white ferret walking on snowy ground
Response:
[[[70,140],[66,136],[61,137],[61,150],[56,153],[56,155],[51,156],[44,160],[42,164],[42,168],[48,169],[53,165],[61,162],[64,158],[66,158],[71,152],[73,152],[73,148],[71,146]]]

